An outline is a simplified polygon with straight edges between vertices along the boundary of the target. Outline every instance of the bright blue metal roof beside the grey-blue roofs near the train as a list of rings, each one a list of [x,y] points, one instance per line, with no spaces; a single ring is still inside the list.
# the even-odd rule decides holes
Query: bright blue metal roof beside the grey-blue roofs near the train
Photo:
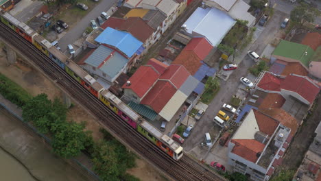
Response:
[[[112,45],[126,54],[129,58],[141,48],[143,43],[137,40],[128,32],[122,32],[117,29],[107,27],[104,32],[95,39],[98,43]]]

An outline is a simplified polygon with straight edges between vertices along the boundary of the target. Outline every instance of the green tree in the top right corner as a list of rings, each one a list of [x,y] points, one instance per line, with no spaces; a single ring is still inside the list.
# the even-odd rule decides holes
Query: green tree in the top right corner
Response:
[[[320,16],[318,9],[302,3],[292,10],[290,19],[302,27],[306,22],[313,22],[314,19],[316,19],[316,16]]]

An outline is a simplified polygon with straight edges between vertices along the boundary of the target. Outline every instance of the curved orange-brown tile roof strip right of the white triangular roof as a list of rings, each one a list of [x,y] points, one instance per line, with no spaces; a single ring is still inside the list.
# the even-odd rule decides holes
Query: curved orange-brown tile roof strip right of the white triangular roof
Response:
[[[285,125],[287,128],[290,128],[290,136],[294,136],[294,134],[296,134],[296,130],[298,130],[299,126],[298,121],[282,108],[265,109],[260,110],[260,112],[263,112],[264,114],[273,117],[274,119],[280,121],[282,125]]]

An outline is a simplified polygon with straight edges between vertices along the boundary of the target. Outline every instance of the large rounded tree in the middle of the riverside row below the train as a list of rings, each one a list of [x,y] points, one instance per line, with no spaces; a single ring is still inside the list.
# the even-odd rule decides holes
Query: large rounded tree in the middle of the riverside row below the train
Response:
[[[63,158],[78,156],[80,152],[89,146],[90,132],[84,132],[84,123],[61,121],[51,125],[53,133],[53,152]]]

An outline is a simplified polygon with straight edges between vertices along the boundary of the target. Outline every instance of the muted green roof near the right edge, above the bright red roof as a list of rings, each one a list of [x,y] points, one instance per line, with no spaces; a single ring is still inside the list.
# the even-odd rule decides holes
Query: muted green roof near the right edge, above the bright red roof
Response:
[[[305,53],[307,52],[307,53]],[[274,49],[273,55],[292,58],[302,62],[306,67],[309,66],[309,60],[313,56],[314,51],[307,45],[281,40],[278,47]]]

